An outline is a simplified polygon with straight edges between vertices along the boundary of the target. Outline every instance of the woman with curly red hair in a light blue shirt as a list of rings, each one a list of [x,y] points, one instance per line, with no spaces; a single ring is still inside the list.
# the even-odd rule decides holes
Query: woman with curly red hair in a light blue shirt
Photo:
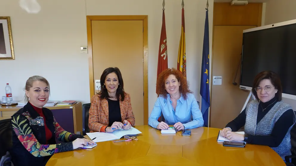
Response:
[[[174,68],[162,71],[157,78],[156,93],[158,98],[148,120],[150,126],[163,130],[174,125],[178,131],[203,126],[201,110],[180,71]],[[158,122],[161,112],[165,122]]]

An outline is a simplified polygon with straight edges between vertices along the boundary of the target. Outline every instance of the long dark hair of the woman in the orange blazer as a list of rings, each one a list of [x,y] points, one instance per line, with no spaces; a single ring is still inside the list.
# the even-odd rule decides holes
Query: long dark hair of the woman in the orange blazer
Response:
[[[103,99],[108,99],[110,98],[109,94],[108,94],[108,90],[104,89],[103,85],[105,82],[105,79],[107,77],[108,74],[110,73],[115,73],[118,77],[118,83],[119,83],[119,87],[116,90],[116,97],[119,99],[119,95],[121,96],[121,101],[124,101],[124,89],[123,89],[123,79],[122,79],[122,75],[121,72],[119,70],[119,68],[107,68],[103,71],[102,75],[101,75],[101,92],[99,92],[98,94],[101,95],[100,98]]]

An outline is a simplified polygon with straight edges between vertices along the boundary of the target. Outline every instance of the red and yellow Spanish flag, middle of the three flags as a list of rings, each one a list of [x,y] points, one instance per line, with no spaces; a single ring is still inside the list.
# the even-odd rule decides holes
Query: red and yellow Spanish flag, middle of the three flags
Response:
[[[186,78],[186,49],[185,49],[185,19],[184,19],[184,1],[182,0],[182,27],[181,38],[178,52],[178,66],[177,69],[181,71]]]

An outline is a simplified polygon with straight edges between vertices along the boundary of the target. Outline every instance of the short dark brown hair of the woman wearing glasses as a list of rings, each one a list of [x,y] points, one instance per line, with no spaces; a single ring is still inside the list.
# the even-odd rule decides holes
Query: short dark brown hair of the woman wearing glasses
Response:
[[[272,85],[275,86],[274,88],[277,89],[277,93],[275,93],[275,97],[277,98],[277,101],[281,101],[282,92],[283,92],[282,83],[280,81],[280,76],[273,71],[262,71],[259,74],[257,74],[253,82],[253,88],[252,88],[252,93],[255,96],[255,98],[259,101],[255,88],[258,87],[258,85],[260,84],[260,81],[262,81],[263,79],[269,79]]]

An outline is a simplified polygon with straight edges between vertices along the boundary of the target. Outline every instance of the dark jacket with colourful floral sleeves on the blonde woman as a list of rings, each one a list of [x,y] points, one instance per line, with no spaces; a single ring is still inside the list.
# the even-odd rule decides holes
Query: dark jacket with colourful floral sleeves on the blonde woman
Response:
[[[82,135],[65,131],[56,122],[50,109],[42,108],[42,111],[45,122],[29,103],[11,117],[13,146],[10,154],[15,166],[45,165],[53,154],[73,150],[72,141],[84,138]],[[48,144],[42,123],[46,123],[52,132]],[[56,144],[55,139],[65,143]]]

